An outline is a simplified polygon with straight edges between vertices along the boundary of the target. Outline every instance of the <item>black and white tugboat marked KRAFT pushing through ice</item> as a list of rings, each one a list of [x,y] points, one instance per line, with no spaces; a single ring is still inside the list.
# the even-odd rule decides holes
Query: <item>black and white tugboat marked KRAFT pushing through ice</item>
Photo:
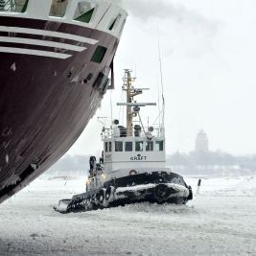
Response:
[[[105,150],[99,163],[90,157],[85,193],[60,200],[56,211],[89,211],[142,201],[185,204],[193,198],[183,177],[165,168],[164,117],[160,125],[143,124],[141,107],[156,104],[134,101],[145,89],[135,88],[133,81],[131,71],[125,70],[127,102],[117,105],[127,107],[126,127],[114,120],[110,128],[103,128]]]

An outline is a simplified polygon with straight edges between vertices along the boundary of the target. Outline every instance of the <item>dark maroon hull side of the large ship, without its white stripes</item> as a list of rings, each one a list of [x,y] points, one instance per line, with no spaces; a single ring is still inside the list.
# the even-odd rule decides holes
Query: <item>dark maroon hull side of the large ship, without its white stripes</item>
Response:
[[[17,25],[18,24],[18,25]],[[41,175],[74,144],[100,105],[99,88],[114,58],[119,39],[105,32],[58,22],[0,17],[0,26],[82,35],[98,41],[78,43],[44,35],[14,37],[61,42],[86,50],[60,51],[26,43],[1,42],[0,48],[33,49],[67,54],[69,58],[0,53],[0,202]],[[11,36],[1,32],[0,36]],[[91,58],[101,45],[102,62]]]

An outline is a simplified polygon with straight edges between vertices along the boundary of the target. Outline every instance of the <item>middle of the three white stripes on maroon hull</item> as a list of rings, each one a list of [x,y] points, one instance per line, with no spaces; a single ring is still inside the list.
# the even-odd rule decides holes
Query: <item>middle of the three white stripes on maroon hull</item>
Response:
[[[0,42],[39,45],[39,46],[46,46],[46,47],[53,47],[53,48],[59,48],[59,49],[64,49],[64,50],[70,50],[70,51],[75,51],[75,52],[81,52],[81,51],[86,49],[85,47],[72,45],[72,44],[58,43],[58,42],[46,41],[46,40],[20,38],[20,37],[0,36]]]

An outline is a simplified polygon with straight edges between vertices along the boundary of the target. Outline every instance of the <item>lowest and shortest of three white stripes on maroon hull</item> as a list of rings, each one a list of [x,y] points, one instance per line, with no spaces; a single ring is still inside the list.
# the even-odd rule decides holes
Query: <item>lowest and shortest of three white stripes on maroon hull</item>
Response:
[[[49,57],[49,58],[70,58],[72,55],[47,52],[47,51],[39,51],[39,50],[31,50],[31,49],[23,49],[23,48],[13,48],[13,47],[0,47],[0,53],[9,53],[9,54],[19,54],[19,55],[33,55],[40,57]]]

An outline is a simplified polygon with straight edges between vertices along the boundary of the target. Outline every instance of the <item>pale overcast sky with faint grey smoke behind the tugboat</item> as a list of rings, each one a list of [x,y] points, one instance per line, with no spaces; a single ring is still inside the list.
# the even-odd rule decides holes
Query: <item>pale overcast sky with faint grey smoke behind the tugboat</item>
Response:
[[[256,1],[124,0],[122,5],[129,17],[115,58],[115,91],[107,92],[101,109],[69,153],[101,151],[97,116],[109,116],[111,94],[113,105],[120,101],[124,68],[136,71],[138,85],[151,88],[146,98],[137,100],[157,102],[157,35],[167,153],[193,151],[200,129],[207,132],[212,151],[255,153]],[[157,110],[149,114],[151,120]],[[118,118],[115,105],[114,113]]]

